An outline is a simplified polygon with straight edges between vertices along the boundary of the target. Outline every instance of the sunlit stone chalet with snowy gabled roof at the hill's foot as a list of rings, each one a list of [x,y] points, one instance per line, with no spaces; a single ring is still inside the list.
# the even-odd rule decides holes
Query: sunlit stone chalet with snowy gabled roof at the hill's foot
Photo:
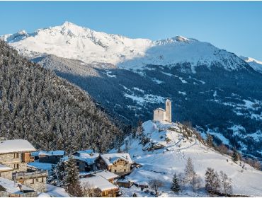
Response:
[[[131,172],[132,163],[129,153],[106,153],[101,154],[98,167],[118,175],[125,175]]]

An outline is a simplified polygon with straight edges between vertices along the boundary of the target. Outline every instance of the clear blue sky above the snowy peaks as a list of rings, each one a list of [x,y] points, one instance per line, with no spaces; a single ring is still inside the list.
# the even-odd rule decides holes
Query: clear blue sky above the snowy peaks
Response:
[[[262,1],[0,1],[0,35],[64,21],[134,38],[183,35],[262,60]]]

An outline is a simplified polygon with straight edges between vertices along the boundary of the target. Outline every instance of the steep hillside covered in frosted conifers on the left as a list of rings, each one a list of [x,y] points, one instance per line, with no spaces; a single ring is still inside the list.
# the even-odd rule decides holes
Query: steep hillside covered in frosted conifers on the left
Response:
[[[0,40],[0,136],[39,149],[106,151],[122,133],[84,91]]]

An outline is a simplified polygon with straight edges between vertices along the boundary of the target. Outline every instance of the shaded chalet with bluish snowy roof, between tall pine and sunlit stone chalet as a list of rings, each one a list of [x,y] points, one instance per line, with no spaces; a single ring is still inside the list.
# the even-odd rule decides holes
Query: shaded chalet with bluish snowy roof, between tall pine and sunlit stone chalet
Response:
[[[99,153],[95,153],[93,150],[76,151],[73,153],[73,158],[76,161],[79,172],[89,172],[96,170]],[[68,156],[65,156],[62,160],[67,161]]]

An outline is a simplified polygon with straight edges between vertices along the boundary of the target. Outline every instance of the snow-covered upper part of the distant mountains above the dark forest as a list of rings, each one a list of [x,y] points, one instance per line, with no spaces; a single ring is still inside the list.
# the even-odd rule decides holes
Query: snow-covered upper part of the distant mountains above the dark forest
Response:
[[[96,32],[69,22],[39,29],[34,33],[21,31],[0,38],[28,57],[55,54],[89,64],[109,63],[124,69],[142,69],[147,64],[189,62],[195,73],[195,66],[200,64],[210,66],[218,63],[224,65],[224,69],[234,70],[239,69],[243,63],[235,54],[220,50],[208,42],[181,36],[156,41],[131,39]]]

